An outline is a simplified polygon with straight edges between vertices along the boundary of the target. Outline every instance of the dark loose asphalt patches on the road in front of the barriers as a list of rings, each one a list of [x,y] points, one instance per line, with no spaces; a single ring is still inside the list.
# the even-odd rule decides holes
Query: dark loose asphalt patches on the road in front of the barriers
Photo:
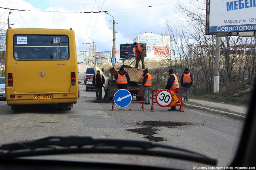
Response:
[[[145,135],[145,137],[149,141],[153,142],[161,142],[161,141],[166,141],[165,138],[162,137],[156,137],[153,136],[156,134],[157,131],[160,131],[156,127],[168,127],[168,128],[173,128],[177,126],[186,126],[186,125],[192,125],[192,123],[189,122],[161,122],[161,121],[144,121],[141,123],[136,123],[137,125],[142,125],[142,126],[147,126],[143,128],[136,128],[136,129],[126,129],[127,131],[133,132],[133,133],[139,133],[142,135]]]

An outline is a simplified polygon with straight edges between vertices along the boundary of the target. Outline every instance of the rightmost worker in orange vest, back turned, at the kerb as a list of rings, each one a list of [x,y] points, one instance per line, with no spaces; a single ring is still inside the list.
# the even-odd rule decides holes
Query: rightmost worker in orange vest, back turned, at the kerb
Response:
[[[190,87],[193,84],[193,76],[189,72],[188,68],[185,68],[185,71],[183,72],[183,74],[180,78],[180,84],[181,84],[181,87],[183,87],[184,101],[185,100],[189,101],[189,90],[190,90]]]

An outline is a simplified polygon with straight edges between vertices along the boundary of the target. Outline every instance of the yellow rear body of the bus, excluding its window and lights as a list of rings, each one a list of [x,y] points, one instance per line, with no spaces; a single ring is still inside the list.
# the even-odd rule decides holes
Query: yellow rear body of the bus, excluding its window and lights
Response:
[[[14,49],[31,48],[38,50],[42,47],[18,44],[14,47],[16,36],[65,36],[68,37],[69,58],[65,60],[26,60],[20,57],[20,51]],[[49,37],[50,37],[49,36]],[[27,40],[28,41],[28,40]],[[29,43],[29,42],[27,42]],[[58,44],[61,45],[61,44]],[[61,49],[61,48],[60,48]],[[58,50],[60,54],[64,51]],[[58,53],[57,52],[57,53]],[[58,56],[60,57],[60,56]],[[59,58],[58,58],[59,59]],[[42,76],[41,73],[44,73]],[[71,84],[71,72],[76,80]],[[12,73],[13,85],[8,85],[8,73]],[[75,35],[73,30],[61,29],[8,29],[6,35],[6,101],[8,105],[45,104],[45,103],[76,103],[78,99],[78,73]],[[15,98],[10,99],[10,95]],[[52,96],[51,99],[35,99],[35,96]]]

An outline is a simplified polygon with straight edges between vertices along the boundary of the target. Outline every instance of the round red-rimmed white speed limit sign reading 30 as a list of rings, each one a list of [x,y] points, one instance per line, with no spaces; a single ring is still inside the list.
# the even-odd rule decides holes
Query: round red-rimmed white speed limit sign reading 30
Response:
[[[170,107],[173,101],[173,94],[170,92],[170,90],[162,89],[156,93],[155,99],[159,106],[164,108]]]

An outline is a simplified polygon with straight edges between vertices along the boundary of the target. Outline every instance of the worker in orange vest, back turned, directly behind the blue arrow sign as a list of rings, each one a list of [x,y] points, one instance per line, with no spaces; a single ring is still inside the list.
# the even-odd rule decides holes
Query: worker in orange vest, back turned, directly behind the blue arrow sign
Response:
[[[117,80],[117,89],[127,89],[130,77],[123,67],[120,68],[114,78]]]

